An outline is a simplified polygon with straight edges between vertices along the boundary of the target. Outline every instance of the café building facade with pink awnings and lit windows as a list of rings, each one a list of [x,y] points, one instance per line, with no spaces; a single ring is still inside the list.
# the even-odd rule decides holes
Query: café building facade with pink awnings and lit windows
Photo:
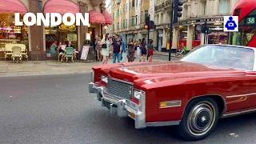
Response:
[[[5,51],[5,44],[10,42],[26,45],[29,59],[36,59],[37,47],[41,51],[48,51],[50,45],[58,40],[60,42],[72,41],[76,50],[81,51],[86,39],[101,35],[102,29],[111,19],[107,18],[104,2],[102,0],[12,0],[9,4],[1,4],[0,22],[1,35],[0,57]],[[12,10],[12,5],[18,8]],[[21,20],[26,13],[88,13],[90,26],[14,26],[14,13],[21,14]],[[10,22],[11,21],[11,22]],[[14,37],[9,36],[13,34]],[[90,38],[86,38],[90,37]],[[39,60],[44,58],[39,54]]]

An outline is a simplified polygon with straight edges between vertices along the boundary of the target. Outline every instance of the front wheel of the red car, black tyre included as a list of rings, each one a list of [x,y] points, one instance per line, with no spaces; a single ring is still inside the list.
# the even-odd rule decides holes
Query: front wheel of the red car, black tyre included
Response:
[[[217,125],[218,116],[218,104],[213,98],[194,99],[186,106],[179,135],[186,140],[206,138]]]

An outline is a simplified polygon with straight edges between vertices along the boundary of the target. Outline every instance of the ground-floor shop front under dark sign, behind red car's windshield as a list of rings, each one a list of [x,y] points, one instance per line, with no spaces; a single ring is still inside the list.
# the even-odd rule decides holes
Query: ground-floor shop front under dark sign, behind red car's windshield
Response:
[[[202,34],[202,26],[207,24],[212,31],[211,34]],[[223,32],[223,17],[222,18],[201,18],[190,21],[183,21],[174,24],[172,49],[180,49],[183,43],[187,50],[192,50],[195,46],[206,43],[223,43],[228,41],[228,34]],[[208,40],[208,41],[207,41]]]

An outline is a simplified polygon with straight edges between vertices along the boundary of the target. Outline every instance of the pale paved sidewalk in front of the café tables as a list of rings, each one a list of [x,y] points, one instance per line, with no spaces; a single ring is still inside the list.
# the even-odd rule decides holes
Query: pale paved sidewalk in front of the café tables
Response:
[[[138,62],[136,58],[135,62]],[[154,61],[161,61],[156,60]],[[112,63],[110,59],[108,63]],[[123,61],[127,62],[126,54],[123,55]],[[92,66],[102,65],[102,62],[62,62],[47,60],[39,61],[40,64],[34,64],[33,61],[23,61],[22,63],[11,63],[10,61],[0,61],[0,77],[27,76],[27,75],[51,75],[51,74],[85,74],[90,73]]]

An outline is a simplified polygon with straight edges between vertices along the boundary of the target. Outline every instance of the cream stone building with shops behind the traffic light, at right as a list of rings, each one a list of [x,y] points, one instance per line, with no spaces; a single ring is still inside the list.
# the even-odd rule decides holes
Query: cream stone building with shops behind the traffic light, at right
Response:
[[[183,2],[182,18],[179,18],[173,27],[172,49],[181,48],[182,43],[188,50],[204,43],[228,43],[229,34],[223,31],[223,16],[231,15],[238,0],[184,0]],[[154,20],[158,24],[158,50],[165,51],[170,39],[168,0],[156,1]],[[206,37],[201,31],[205,22],[212,31]]]

